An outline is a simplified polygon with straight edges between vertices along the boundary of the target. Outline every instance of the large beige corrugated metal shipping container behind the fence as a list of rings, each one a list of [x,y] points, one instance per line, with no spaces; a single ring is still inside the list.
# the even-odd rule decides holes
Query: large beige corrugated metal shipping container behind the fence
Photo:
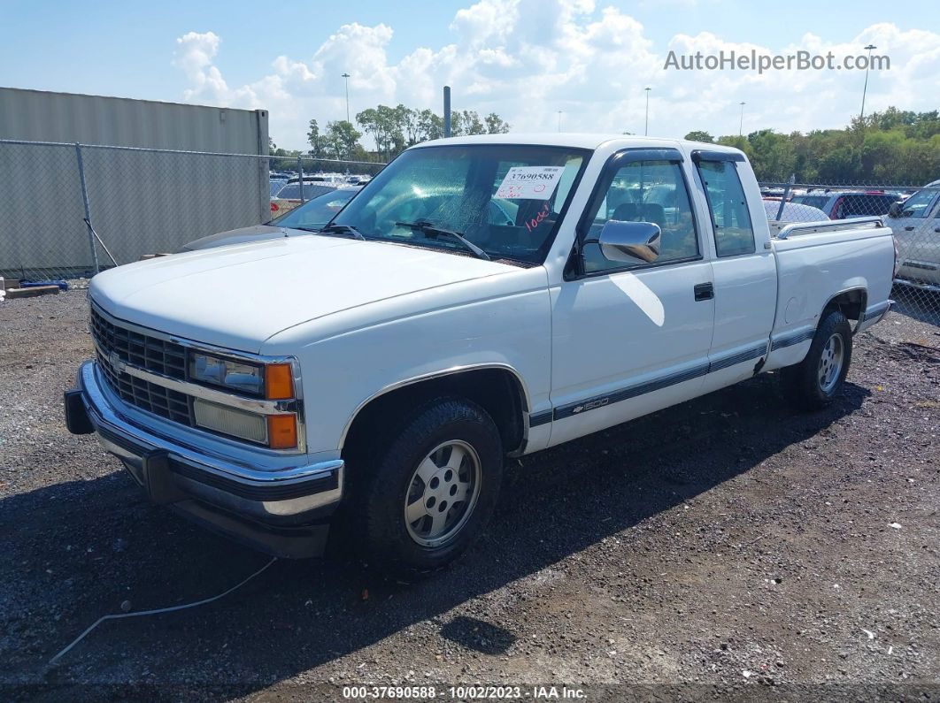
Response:
[[[0,140],[0,274],[89,270],[85,196],[121,264],[269,219],[266,110],[0,88]]]

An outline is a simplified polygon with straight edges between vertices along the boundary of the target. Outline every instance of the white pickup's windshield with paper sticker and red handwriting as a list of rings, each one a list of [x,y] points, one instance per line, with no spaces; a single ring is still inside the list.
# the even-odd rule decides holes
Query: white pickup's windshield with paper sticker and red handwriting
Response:
[[[540,145],[427,146],[404,152],[334,222],[368,239],[540,264],[590,151]],[[415,226],[426,223],[428,226]],[[407,226],[412,225],[412,226]]]

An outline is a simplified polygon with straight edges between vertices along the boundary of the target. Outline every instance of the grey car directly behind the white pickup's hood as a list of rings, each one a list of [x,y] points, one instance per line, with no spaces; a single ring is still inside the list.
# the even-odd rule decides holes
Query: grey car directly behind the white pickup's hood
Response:
[[[271,222],[255,224],[250,227],[239,227],[238,229],[219,232],[216,235],[200,237],[187,242],[180,247],[178,253],[196,252],[202,249],[263,241],[265,239],[297,237],[317,232],[332,220],[334,215],[359,190],[359,188],[337,188],[336,191],[329,191],[306,201],[304,205],[295,207],[281,217],[274,218]]]

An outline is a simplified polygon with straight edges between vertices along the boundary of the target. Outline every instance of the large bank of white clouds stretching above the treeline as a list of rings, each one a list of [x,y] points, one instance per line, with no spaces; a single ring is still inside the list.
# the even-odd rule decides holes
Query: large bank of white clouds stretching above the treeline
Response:
[[[682,0],[681,4],[695,0]],[[177,39],[173,65],[186,80],[184,99],[270,111],[274,140],[301,147],[306,122],[345,115],[341,74],[348,71],[352,113],[379,102],[440,109],[441,86],[455,108],[496,112],[513,130],[564,128],[641,133],[643,88],[650,92],[650,134],[682,136],[703,129],[734,133],[744,100],[744,130],[841,127],[858,111],[864,72],[858,70],[678,71],[664,69],[676,53],[811,53],[838,59],[871,42],[891,69],[871,73],[866,111],[890,104],[935,108],[940,93],[940,34],[874,24],[857,37],[807,34],[790,46],[759,46],[709,32],[676,35],[657,46],[641,23],[593,0],[478,0],[457,10],[437,46],[416,47],[397,63],[386,24],[344,24],[309,57],[278,56],[257,81],[231,88],[216,62],[222,39],[190,32]]]

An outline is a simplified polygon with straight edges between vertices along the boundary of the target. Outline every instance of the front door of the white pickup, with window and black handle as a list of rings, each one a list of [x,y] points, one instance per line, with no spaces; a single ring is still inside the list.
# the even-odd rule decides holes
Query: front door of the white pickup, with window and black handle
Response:
[[[608,261],[584,244],[552,289],[550,444],[695,397],[708,372],[714,325],[712,264],[677,149],[626,149],[604,167],[579,241],[608,220],[662,230],[652,263]]]

